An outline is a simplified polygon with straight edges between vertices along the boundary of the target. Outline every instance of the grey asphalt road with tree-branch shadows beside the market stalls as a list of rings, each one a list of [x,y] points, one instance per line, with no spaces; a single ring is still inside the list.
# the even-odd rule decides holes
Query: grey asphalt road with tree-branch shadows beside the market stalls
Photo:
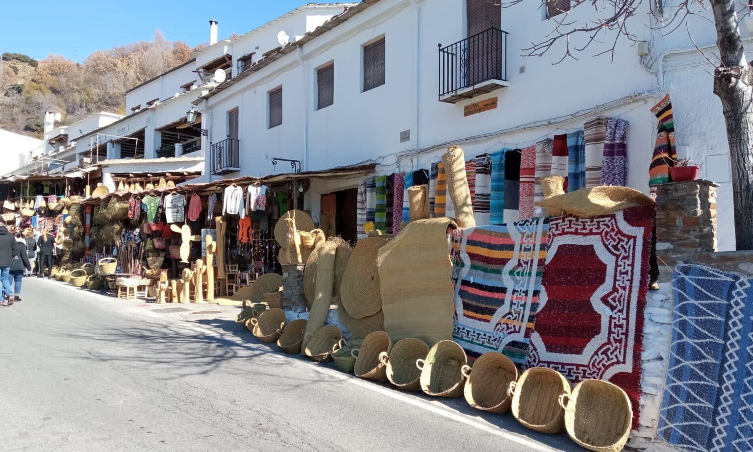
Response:
[[[187,322],[26,279],[0,309],[0,450],[583,450],[285,356],[201,306]]]

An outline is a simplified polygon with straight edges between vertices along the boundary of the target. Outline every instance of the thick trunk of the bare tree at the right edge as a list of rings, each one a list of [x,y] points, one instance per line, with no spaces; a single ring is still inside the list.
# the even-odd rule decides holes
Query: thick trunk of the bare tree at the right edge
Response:
[[[714,93],[721,99],[732,161],[737,249],[753,249],[753,72],[745,59],[733,0],[712,0],[721,65]]]

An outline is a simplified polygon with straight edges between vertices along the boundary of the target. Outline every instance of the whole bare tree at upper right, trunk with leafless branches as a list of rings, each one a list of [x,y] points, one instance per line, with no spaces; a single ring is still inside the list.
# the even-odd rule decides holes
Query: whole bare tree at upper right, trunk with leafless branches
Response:
[[[547,2],[543,0],[544,8]],[[517,5],[523,0],[503,2],[502,7]],[[654,2],[649,5],[649,2]],[[586,23],[571,20],[569,11],[575,8],[585,8],[587,5],[596,11],[596,18]],[[561,58],[578,59],[578,53],[591,47],[599,47],[596,55],[611,54],[614,59],[614,49],[620,39],[639,41],[636,34],[629,28],[638,23],[645,26],[645,20],[631,20],[636,17],[641,8],[648,5],[654,11],[660,0],[571,0],[569,11],[562,11],[553,17],[554,29],[542,41],[534,42],[523,49],[526,56],[542,56],[544,53],[559,47],[555,44],[564,43]],[[674,13],[668,20],[657,24],[668,32],[674,32],[687,17],[699,16],[702,10],[711,9],[713,23],[717,34],[719,49],[718,60],[714,64],[714,93],[721,99],[722,113],[727,124],[727,141],[730,146],[730,160],[732,161],[732,186],[735,215],[735,234],[737,249],[753,249],[753,70],[745,58],[745,49],[738,27],[738,20],[750,14],[751,6],[748,2],[736,0],[680,0],[673,8]],[[739,8],[739,11],[736,10]],[[653,13],[652,13],[653,14]],[[583,44],[572,44],[581,40]],[[606,44],[604,44],[606,43]],[[605,47],[604,47],[605,46]],[[699,49],[700,51],[700,49]]]

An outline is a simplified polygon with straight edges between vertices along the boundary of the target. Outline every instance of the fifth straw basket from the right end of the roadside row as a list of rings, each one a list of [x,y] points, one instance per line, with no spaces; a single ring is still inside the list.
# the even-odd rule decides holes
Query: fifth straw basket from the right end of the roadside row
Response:
[[[387,366],[387,380],[390,383],[404,391],[417,391],[421,389],[421,370],[416,367],[416,360],[425,359],[427,355],[428,345],[410,337],[398,341],[390,353],[380,353],[379,359]]]

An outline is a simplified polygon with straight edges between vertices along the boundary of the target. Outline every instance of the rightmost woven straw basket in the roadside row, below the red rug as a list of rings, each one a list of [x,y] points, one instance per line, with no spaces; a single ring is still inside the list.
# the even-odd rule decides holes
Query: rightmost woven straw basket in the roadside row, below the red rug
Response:
[[[584,380],[572,395],[560,395],[559,405],[565,410],[565,429],[573,441],[596,452],[618,452],[625,447],[633,408],[620,387]]]

